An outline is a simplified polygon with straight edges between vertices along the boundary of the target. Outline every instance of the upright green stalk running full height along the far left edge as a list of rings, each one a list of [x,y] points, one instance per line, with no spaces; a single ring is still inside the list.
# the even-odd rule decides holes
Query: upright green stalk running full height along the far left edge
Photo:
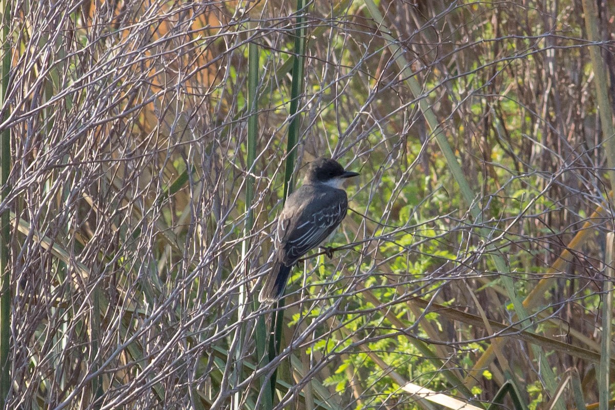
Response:
[[[9,89],[9,72],[11,50],[10,36],[10,1],[2,0],[2,90],[0,90],[0,104],[6,101]],[[9,107],[2,111],[1,122],[9,117]],[[4,200],[9,193],[10,172],[10,130],[6,128],[0,135],[0,186],[2,187],[1,199]],[[0,215],[0,409],[6,407],[6,398],[10,391],[9,352],[10,352],[10,270],[9,270],[9,246],[10,246],[10,220],[9,211]]]

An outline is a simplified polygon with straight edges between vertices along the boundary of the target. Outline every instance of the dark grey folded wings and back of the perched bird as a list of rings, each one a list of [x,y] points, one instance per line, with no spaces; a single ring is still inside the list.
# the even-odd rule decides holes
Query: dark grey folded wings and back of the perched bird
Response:
[[[306,197],[308,202],[296,200]],[[328,189],[289,197],[287,204],[280,213],[276,242],[278,260],[290,266],[335,230],[346,216],[348,200],[343,189]]]

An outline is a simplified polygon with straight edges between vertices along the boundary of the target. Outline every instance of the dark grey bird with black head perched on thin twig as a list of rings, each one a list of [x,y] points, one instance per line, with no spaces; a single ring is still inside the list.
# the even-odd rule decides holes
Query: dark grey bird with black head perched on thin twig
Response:
[[[297,260],[335,231],[348,210],[344,180],[357,175],[333,159],[309,164],[303,185],[288,196],[277,220],[273,267],[258,295],[260,302],[280,299]]]

